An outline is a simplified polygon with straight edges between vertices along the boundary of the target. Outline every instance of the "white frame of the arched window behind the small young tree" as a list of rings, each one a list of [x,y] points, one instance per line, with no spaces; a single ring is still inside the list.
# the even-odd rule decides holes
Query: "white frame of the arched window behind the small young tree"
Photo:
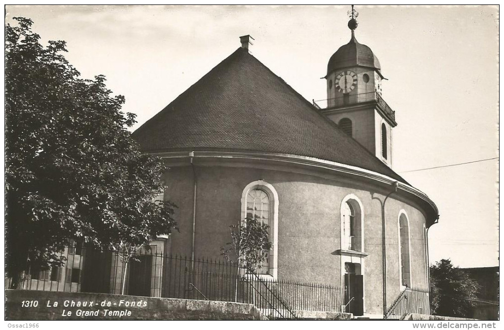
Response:
[[[260,274],[260,278],[274,279],[278,277],[278,193],[270,183],[264,180],[250,182],[245,186],[241,193],[241,221],[246,218],[247,213],[247,195],[250,190],[260,189],[266,192],[270,199],[270,242],[272,244],[270,250],[270,274]]]

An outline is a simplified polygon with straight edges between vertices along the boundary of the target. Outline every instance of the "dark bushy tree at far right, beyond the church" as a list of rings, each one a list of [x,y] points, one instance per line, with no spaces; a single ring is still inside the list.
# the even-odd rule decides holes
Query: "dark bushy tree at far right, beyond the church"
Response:
[[[450,259],[430,267],[430,308],[434,315],[470,317],[479,291],[477,282]]]

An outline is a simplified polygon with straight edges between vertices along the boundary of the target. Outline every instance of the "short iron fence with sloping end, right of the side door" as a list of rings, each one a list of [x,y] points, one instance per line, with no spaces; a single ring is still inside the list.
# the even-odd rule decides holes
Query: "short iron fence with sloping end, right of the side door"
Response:
[[[385,318],[402,320],[408,314],[430,314],[427,289],[406,288],[387,309]]]

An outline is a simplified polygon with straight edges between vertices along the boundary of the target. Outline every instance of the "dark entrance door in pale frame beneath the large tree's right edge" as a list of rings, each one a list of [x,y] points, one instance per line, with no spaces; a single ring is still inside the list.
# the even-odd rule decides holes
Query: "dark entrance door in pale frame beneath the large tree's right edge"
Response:
[[[152,256],[136,255],[138,260],[130,260],[130,279],[128,294],[132,296],[151,296]]]

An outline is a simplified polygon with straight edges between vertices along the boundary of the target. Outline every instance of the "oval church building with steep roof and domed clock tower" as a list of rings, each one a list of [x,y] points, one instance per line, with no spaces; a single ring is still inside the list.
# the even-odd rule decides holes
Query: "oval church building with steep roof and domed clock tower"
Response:
[[[259,216],[272,280],[337,285],[354,315],[384,315],[407,288],[428,289],[435,204],[392,166],[395,112],[386,75],[355,36],[328,59],[327,107],[309,102],[241,46],[133,133],[169,167],[163,198],[180,231],[154,242],[219,258],[231,225]],[[398,110],[400,111],[400,110]],[[428,311],[425,311],[428,313]]]

